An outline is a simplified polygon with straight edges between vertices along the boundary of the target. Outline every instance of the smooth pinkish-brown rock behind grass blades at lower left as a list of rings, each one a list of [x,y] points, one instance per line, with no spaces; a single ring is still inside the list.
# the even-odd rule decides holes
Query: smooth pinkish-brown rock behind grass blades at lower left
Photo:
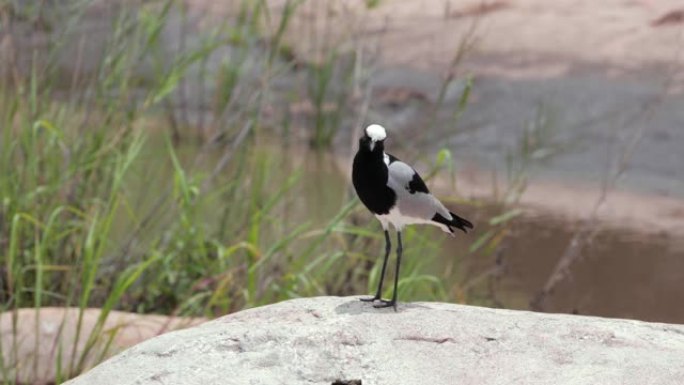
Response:
[[[204,318],[74,307],[0,312],[0,383],[52,384],[59,371],[92,368],[148,338],[197,325]],[[58,369],[59,365],[59,369]],[[5,382],[3,382],[5,381]]]

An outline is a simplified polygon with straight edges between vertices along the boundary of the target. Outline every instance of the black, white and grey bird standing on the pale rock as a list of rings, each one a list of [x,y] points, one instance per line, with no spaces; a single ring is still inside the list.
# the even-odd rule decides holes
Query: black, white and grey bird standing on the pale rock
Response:
[[[401,231],[411,224],[429,224],[454,235],[454,229],[467,232],[473,224],[450,212],[442,202],[430,194],[420,175],[408,164],[385,153],[385,128],[378,124],[366,127],[359,139],[359,150],[354,156],[352,182],[361,202],[378,218],[385,231],[385,259],[380,273],[380,284],[374,297],[362,301],[379,303],[374,307],[397,308],[397,284],[401,264]],[[389,225],[397,231],[397,267],[392,299],[381,298],[387,260],[391,251]]]

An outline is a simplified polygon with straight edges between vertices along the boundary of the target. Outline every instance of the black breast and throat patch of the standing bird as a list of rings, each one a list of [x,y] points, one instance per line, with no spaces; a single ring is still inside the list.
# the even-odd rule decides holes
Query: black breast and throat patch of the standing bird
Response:
[[[361,202],[374,214],[389,213],[397,201],[397,195],[387,187],[388,175],[382,152],[356,153],[352,183]]]

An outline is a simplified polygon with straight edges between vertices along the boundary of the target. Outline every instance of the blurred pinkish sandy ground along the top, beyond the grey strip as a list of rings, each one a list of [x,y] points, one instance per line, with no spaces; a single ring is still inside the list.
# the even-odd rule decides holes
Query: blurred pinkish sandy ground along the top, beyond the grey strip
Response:
[[[269,3],[281,10],[285,1]],[[470,36],[471,55],[527,59],[516,69],[471,68],[510,76],[554,76],[573,61],[616,70],[681,63],[684,42],[678,0],[382,0],[371,10],[365,1],[328,1],[306,2],[297,16],[290,36],[302,55],[355,40],[375,46],[385,63],[440,70]]]

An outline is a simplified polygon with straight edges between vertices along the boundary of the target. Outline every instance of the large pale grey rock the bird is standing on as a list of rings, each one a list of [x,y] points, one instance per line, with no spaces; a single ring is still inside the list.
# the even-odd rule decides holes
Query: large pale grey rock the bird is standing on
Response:
[[[70,385],[681,384],[684,326],[319,297],[147,340]]]

